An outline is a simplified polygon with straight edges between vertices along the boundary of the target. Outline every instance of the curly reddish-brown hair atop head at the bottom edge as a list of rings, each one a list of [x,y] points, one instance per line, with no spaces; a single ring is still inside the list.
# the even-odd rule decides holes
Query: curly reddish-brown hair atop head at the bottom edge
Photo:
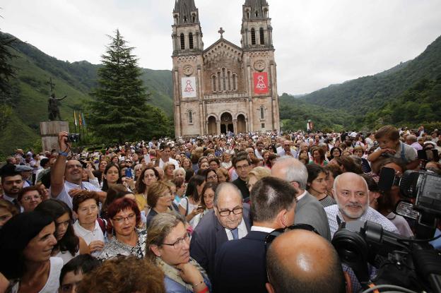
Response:
[[[164,273],[151,261],[135,256],[117,256],[88,273],[78,293],[165,293]]]

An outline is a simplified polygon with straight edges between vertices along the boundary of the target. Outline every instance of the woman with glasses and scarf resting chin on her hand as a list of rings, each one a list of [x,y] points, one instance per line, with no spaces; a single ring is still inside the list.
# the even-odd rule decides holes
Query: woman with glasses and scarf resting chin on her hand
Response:
[[[147,235],[146,257],[163,270],[166,292],[211,292],[205,270],[190,257],[190,236],[181,215],[156,215]]]

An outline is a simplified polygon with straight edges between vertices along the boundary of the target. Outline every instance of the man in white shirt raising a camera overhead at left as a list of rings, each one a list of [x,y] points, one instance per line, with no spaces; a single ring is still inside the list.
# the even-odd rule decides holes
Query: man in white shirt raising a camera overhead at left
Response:
[[[54,167],[51,168],[50,194],[52,198],[64,201],[72,208],[72,198],[82,190],[97,191],[100,201],[104,201],[107,193],[93,184],[82,181],[83,165],[78,160],[67,160],[71,145],[67,142],[68,133],[61,131],[58,134],[59,153]]]

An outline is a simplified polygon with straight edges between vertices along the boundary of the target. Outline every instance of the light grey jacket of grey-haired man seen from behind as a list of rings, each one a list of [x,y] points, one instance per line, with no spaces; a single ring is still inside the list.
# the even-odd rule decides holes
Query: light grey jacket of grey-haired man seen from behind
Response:
[[[331,231],[326,212],[322,203],[317,201],[309,192],[300,198],[295,205],[295,224],[309,224],[319,232],[322,237],[331,241]]]

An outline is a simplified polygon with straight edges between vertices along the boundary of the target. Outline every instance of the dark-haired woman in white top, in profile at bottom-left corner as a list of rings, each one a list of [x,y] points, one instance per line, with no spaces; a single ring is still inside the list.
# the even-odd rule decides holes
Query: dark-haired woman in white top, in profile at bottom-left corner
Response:
[[[11,282],[11,292],[58,292],[63,261],[51,257],[55,231],[52,217],[38,211],[16,215],[4,225],[0,273]]]

